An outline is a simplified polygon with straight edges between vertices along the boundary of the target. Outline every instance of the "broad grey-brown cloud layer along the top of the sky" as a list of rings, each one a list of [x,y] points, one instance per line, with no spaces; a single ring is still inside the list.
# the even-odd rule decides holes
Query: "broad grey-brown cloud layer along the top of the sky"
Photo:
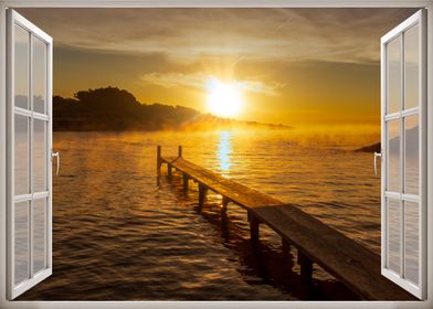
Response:
[[[252,61],[377,62],[379,39],[413,9],[21,9],[57,45]]]

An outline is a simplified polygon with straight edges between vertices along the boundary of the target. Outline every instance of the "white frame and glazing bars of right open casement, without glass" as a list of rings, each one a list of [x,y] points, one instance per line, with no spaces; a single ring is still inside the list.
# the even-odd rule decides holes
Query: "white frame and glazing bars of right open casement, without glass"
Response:
[[[410,291],[414,296],[416,296],[420,299],[425,299],[426,297],[426,291],[424,287],[426,286],[426,276],[425,274],[421,273],[421,270],[426,269],[426,221],[425,221],[425,215],[420,217],[420,224],[419,224],[419,232],[420,232],[420,256],[419,256],[419,266],[420,266],[420,283],[419,285],[414,285],[410,283],[409,280],[402,278],[399,274],[394,273],[393,270],[389,269],[386,267],[387,265],[387,236],[383,233],[383,231],[387,231],[387,198],[392,198],[394,201],[410,201],[414,203],[419,203],[420,205],[420,212],[424,214],[426,212],[426,172],[422,170],[422,167],[426,164],[426,154],[427,150],[425,149],[425,141],[426,141],[426,90],[425,90],[425,84],[420,84],[422,92],[419,94],[419,105],[416,107],[412,107],[410,109],[403,109],[401,110],[401,107],[399,111],[395,111],[393,114],[388,114],[387,113],[387,105],[388,105],[388,83],[387,83],[387,73],[388,73],[388,58],[387,58],[387,51],[384,47],[384,44],[390,43],[392,40],[394,40],[397,36],[401,35],[402,32],[408,31],[415,24],[420,26],[420,51],[421,51],[421,58],[420,58],[420,83],[424,83],[426,81],[426,70],[424,70],[423,64],[426,63],[426,53],[425,51],[425,43],[423,42],[423,38],[426,38],[426,12],[424,10],[420,10],[416,13],[414,13],[412,17],[406,19],[405,21],[401,22],[399,25],[397,25],[394,29],[392,29],[390,32],[388,32],[386,35],[381,38],[381,141],[382,141],[382,169],[381,169],[381,227],[382,227],[382,233],[381,233],[381,268],[382,268],[382,275],[389,278],[391,281],[394,281],[399,286],[403,287],[405,290]],[[404,44],[402,41],[402,44],[400,46],[400,52],[403,55],[404,54]],[[402,67],[404,66],[403,57],[402,57]],[[404,72],[404,70],[403,70]],[[401,93],[402,93],[402,103],[405,100],[403,96],[403,89],[405,85],[405,76],[402,76],[402,84],[401,84]],[[393,120],[393,119],[400,119],[400,140],[401,140],[401,151],[404,151],[404,148],[402,147],[402,142],[404,140],[404,130],[403,130],[403,119],[405,116],[411,116],[411,115],[419,115],[419,124],[420,124],[420,149],[419,149],[419,156],[420,156],[420,167],[419,167],[419,172],[420,172],[420,188],[419,188],[419,194],[413,195],[413,194],[405,194],[405,193],[397,193],[397,192],[389,192],[387,191],[387,178],[388,178],[388,167],[386,162],[386,158],[388,158],[388,149],[387,145],[383,142],[387,140],[387,121]],[[402,153],[401,152],[401,153]],[[384,164],[383,164],[384,163]],[[404,159],[401,158],[400,162],[400,177],[401,181],[403,181],[403,164],[404,164]],[[402,184],[403,188],[403,184]],[[402,190],[402,189],[401,189]],[[401,210],[403,211],[404,207],[401,205]],[[402,221],[402,231],[404,231],[404,222]],[[403,242],[404,237],[401,237],[401,249],[403,248]],[[402,257],[404,256],[404,253],[402,252]],[[402,258],[401,257],[401,258]],[[401,267],[403,267],[404,263],[401,264]],[[402,273],[403,268],[402,268]]]

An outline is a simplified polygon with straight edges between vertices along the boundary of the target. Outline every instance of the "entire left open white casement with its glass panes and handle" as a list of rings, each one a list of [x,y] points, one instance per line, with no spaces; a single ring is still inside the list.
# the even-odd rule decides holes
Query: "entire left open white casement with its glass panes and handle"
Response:
[[[13,10],[7,25],[7,275],[13,299],[52,274],[52,39]]]

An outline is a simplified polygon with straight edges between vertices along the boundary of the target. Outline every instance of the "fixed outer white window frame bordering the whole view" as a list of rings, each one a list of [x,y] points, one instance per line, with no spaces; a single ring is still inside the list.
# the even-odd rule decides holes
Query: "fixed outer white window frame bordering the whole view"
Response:
[[[1,1],[1,0],[0,0]],[[425,301],[8,301],[6,286],[6,9],[7,8],[426,8],[427,235],[433,235],[433,0],[2,0],[0,2],[0,308],[433,308],[433,236],[427,237]],[[55,39],[55,38],[54,38]],[[378,41],[379,44],[379,41]],[[311,85],[313,87],[313,85]],[[430,108],[432,107],[432,108]],[[54,269],[55,271],[55,269]]]

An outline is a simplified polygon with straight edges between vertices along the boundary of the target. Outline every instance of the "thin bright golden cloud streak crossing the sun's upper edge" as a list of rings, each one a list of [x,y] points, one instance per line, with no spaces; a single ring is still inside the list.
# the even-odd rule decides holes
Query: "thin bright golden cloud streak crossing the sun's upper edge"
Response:
[[[197,72],[191,74],[183,74],[177,72],[170,73],[146,73],[140,76],[140,81],[147,84],[160,86],[163,88],[175,88],[175,87],[191,87],[191,88],[208,88],[215,82],[219,82],[220,78],[205,74],[203,72]],[[261,81],[222,81],[223,83],[230,83],[237,89],[264,94],[268,96],[278,95],[277,89],[284,87],[285,85],[282,83],[264,83]],[[220,83],[220,82],[219,82]]]

